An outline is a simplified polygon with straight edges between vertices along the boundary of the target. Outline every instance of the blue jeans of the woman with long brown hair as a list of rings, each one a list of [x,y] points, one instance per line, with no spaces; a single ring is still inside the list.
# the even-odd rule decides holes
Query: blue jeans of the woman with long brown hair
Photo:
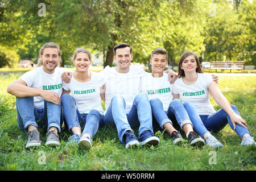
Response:
[[[209,133],[210,131],[217,133],[218,131],[222,130],[228,123],[232,130],[234,130],[229,115],[223,109],[220,109],[216,111],[216,113],[210,115],[199,115],[197,113],[196,107],[192,103],[185,102],[184,107],[188,111],[196,133],[198,133],[202,138],[205,133]],[[240,115],[236,106],[231,105],[231,107],[236,114]],[[236,130],[234,131],[239,135],[241,139],[244,134],[250,134],[245,127],[238,125],[237,123]]]

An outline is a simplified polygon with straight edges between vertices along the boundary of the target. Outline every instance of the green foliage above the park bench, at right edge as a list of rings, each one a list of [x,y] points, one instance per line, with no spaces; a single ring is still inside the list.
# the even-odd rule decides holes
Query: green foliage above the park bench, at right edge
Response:
[[[240,4],[241,2],[241,4]],[[205,22],[205,60],[245,61],[255,65],[256,3],[219,1],[213,4],[214,14]]]

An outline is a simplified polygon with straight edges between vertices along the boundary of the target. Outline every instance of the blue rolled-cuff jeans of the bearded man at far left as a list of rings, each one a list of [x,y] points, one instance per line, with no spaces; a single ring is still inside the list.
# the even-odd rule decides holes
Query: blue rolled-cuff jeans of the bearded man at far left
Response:
[[[63,123],[63,114],[60,105],[44,101],[44,107],[42,109],[36,109],[34,97],[16,97],[16,111],[18,125],[22,131],[27,132],[27,127],[31,125],[47,131],[51,127],[56,127],[60,133],[60,126]]]

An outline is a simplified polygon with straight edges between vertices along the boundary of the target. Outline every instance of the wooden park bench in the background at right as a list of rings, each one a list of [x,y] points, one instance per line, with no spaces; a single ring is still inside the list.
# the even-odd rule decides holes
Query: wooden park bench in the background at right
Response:
[[[245,69],[245,61],[210,61],[210,69],[232,69],[243,70]]]

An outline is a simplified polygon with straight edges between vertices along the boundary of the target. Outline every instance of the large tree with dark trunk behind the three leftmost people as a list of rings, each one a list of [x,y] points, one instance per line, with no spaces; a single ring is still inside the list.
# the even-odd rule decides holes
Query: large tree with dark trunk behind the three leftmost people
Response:
[[[139,24],[159,6],[159,2],[152,0],[44,1],[46,16],[39,16],[39,3],[35,0],[3,3],[7,11],[16,14],[13,17],[16,26],[28,30],[22,35],[32,35],[28,44],[36,46],[38,51],[39,45],[54,41],[60,45],[64,59],[79,46],[106,50],[105,66],[112,65],[113,47],[117,43],[126,42],[133,47],[150,44],[141,36],[143,30]]]

